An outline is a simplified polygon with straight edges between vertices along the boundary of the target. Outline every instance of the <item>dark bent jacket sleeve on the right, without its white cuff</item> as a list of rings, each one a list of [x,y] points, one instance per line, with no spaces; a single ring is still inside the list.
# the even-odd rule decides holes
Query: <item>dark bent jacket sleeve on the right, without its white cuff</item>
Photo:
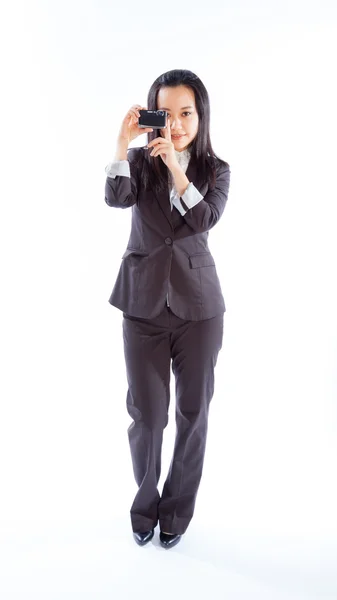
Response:
[[[228,163],[220,163],[217,167],[217,176],[214,190],[207,192],[203,200],[200,200],[195,206],[189,208],[186,206],[186,212],[183,215],[186,224],[194,233],[203,233],[209,231],[219,221],[225,210],[230,182],[230,167]],[[182,196],[184,205],[184,197]]]

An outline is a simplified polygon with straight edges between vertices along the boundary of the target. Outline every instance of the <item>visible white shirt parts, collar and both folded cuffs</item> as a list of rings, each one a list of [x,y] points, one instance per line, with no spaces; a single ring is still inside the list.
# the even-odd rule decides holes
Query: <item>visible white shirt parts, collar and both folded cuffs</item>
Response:
[[[184,173],[186,173],[187,167],[188,167],[188,163],[190,162],[190,158],[191,158],[191,153],[189,151],[188,148],[185,148],[185,150],[181,150],[181,152],[179,152],[178,150],[174,150],[177,160],[181,166],[181,168],[183,169]],[[107,177],[112,177],[112,179],[114,179],[116,177],[116,175],[121,175],[123,177],[130,177],[130,164],[128,160],[116,160],[113,162],[110,162],[106,167],[105,167],[105,172],[107,174]],[[170,202],[171,202],[171,210],[173,210],[173,207],[175,207],[182,216],[184,216],[184,214],[186,214],[186,210],[185,208],[182,206],[181,204],[181,200],[180,200],[180,196],[174,186],[173,183],[173,179],[170,175],[170,179],[171,179],[171,194],[170,194]],[[186,204],[186,206],[190,209],[193,208],[193,206],[195,206],[196,204],[198,204],[198,202],[200,202],[200,200],[203,199],[202,194],[200,194],[200,192],[197,190],[197,188],[194,187],[193,183],[190,181],[190,183],[188,184],[185,192],[183,193],[183,195],[181,196],[181,198],[184,200],[184,203]]]

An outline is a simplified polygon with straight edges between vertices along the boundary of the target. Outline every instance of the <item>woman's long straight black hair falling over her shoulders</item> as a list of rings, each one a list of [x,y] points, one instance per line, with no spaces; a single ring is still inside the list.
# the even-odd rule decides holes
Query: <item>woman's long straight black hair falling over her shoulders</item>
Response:
[[[203,181],[208,181],[210,189],[214,189],[216,181],[215,159],[224,163],[218,157],[211,144],[210,139],[210,103],[208,92],[201,79],[192,71],[187,69],[173,69],[163,73],[153,82],[147,96],[148,110],[157,110],[158,92],[162,87],[177,87],[185,85],[194,91],[195,106],[199,117],[198,131],[195,138],[189,144],[191,160],[196,160],[197,172]],[[160,135],[160,132],[159,132]],[[158,130],[148,133],[148,141],[158,137]],[[145,188],[152,187],[156,193],[167,189],[169,182],[169,169],[159,157],[149,156],[147,150],[143,153],[141,169],[141,181]],[[227,164],[227,163],[224,163]]]

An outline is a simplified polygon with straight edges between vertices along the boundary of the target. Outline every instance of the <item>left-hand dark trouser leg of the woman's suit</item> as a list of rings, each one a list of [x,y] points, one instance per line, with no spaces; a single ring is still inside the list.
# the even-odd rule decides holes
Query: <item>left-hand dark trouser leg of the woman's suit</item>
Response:
[[[158,523],[157,489],[161,471],[163,430],[170,402],[170,340],[167,311],[156,319],[123,313],[124,355],[128,380],[127,410],[133,422],[128,437],[135,480],[139,486],[130,510],[133,531]]]

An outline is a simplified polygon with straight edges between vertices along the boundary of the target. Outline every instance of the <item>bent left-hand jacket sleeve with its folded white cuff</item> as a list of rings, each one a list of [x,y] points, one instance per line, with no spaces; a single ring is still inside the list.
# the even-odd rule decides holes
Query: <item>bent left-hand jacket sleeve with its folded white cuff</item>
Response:
[[[129,208],[137,202],[138,169],[135,165],[138,148],[128,148],[127,161],[114,161],[105,168],[105,202],[114,208]],[[126,164],[128,162],[128,164]],[[123,174],[122,174],[123,173]]]

